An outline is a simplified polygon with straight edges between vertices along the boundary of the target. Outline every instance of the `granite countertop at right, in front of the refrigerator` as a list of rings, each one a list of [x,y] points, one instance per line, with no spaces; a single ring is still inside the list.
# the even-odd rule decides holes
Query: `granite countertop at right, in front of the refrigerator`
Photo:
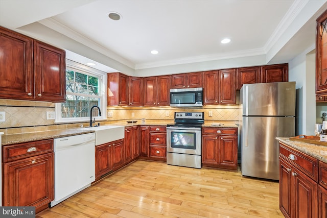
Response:
[[[291,141],[289,138],[276,137],[278,141],[287,144],[288,146],[303,152],[311,157],[317,158],[318,160],[327,163],[327,147],[318,146],[317,144],[305,143],[300,141]]]

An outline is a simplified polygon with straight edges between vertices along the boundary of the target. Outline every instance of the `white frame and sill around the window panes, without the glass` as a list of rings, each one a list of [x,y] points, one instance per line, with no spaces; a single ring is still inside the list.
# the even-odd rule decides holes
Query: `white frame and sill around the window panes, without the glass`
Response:
[[[81,72],[83,74],[89,76],[99,77],[99,84],[102,87],[99,87],[99,95],[100,97],[100,109],[101,116],[92,116],[92,119],[96,118],[96,120],[106,120],[107,118],[107,74],[101,70],[88,67],[86,65],[71,61],[66,59],[66,69],[71,69],[77,72]],[[68,92],[69,93],[69,92]],[[66,93],[67,94],[67,93]],[[74,93],[72,93],[74,94]],[[55,105],[56,118],[55,123],[78,123],[78,122],[86,122],[90,120],[90,117],[61,117],[61,103],[56,103]]]

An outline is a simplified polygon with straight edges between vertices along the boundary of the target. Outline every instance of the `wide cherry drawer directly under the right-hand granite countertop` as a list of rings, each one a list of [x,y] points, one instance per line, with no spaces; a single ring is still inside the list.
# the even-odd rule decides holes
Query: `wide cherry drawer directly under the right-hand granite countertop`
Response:
[[[296,166],[300,171],[318,181],[318,160],[293,148],[279,143],[279,155]]]

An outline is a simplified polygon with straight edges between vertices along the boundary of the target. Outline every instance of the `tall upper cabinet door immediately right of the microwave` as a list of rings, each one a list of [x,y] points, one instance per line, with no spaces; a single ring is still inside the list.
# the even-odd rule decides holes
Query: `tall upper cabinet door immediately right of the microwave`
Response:
[[[218,70],[203,72],[203,104],[219,104],[219,75]]]

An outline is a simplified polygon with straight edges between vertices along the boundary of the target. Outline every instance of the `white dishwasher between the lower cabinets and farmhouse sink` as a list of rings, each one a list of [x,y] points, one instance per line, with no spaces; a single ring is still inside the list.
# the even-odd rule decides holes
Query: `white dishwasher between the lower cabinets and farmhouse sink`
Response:
[[[95,144],[95,133],[54,139],[55,200],[51,207],[95,181]]]

